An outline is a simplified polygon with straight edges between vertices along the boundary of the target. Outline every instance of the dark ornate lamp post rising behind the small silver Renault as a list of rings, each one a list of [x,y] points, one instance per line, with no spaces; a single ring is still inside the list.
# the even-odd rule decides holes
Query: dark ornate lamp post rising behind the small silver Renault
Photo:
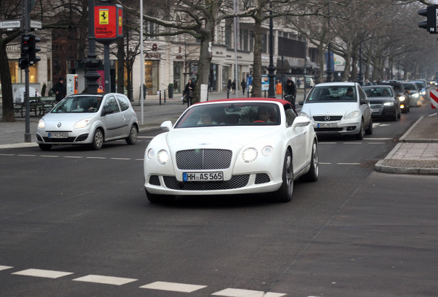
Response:
[[[84,77],[87,79],[87,93],[97,94],[97,80],[101,76],[97,69],[101,65],[101,60],[96,54],[96,36],[94,35],[94,0],[88,0],[88,55],[83,61],[86,67]]]

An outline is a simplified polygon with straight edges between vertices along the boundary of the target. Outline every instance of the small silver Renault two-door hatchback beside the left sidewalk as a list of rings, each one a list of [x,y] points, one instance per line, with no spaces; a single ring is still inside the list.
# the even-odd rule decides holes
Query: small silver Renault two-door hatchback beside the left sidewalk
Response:
[[[125,138],[137,141],[138,120],[131,102],[122,94],[80,94],[65,97],[39,120],[36,142],[43,151],[55,144],[90,144]]]

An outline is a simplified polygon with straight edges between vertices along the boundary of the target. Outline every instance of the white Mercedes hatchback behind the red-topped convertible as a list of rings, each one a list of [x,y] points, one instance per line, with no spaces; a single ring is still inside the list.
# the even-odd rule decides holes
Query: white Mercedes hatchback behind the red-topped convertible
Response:
[[[373,133],[370,102],[358,83],[321,83],[306,97],[300,115],[311,120],[318,135]]]

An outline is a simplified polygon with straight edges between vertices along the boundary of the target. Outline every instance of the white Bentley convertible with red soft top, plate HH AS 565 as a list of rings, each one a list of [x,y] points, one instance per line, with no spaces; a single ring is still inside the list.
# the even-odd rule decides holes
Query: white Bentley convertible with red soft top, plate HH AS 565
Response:
[[[318,178],[317,136],[308,118],[286,100],[233,98],[189,107],[145,151],[145,190],[151,202],[176,195],[273,192],[290,201],[293,181]]]

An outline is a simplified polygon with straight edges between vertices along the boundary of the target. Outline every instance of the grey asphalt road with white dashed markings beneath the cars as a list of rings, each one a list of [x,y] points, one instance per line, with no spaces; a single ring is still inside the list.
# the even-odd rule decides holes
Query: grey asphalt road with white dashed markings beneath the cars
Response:
[[[320,179],[149,203],[143,154],[110,142],[0,152],[0,296],[437,296],[437,176],[373,165],[428,112],[320,139]],[[263,294],[267,292],[267,294]]]

